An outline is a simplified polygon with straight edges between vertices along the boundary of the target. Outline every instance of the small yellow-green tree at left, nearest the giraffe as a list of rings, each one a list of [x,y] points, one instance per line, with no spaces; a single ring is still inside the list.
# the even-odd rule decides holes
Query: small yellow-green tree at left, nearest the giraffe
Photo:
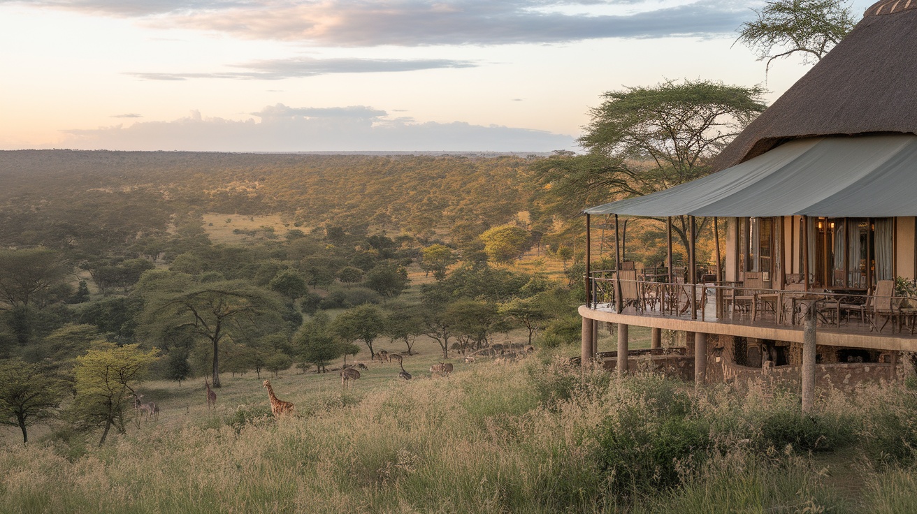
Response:
[[[156,349],[144,352],[138,344],[99,343],[76,358],[72,414],[84,429],[104,427],[100,446],[113,425],[125,432],[125,402],[133,398],[134,388],[158,353]]]

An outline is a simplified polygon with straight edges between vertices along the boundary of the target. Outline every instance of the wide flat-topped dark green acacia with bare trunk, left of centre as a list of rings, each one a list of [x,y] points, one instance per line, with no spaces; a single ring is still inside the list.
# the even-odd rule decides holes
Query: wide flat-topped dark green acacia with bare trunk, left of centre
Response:
[[[149,294],[144,322],[153,332],[187,331],[213,349],[213,386],[220,387],[219,349],[225,338],[253,341],[282,327],[280,303],[266,290],[238,280],[189,284]]]

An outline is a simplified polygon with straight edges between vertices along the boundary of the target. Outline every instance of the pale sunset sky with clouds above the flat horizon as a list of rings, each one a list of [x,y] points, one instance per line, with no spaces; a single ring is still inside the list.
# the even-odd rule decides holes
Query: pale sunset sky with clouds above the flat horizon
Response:
[[[853,2],[858,18],[870,2]],[[0,0],[0,149],[576,150],[607,91],[760,84],[753,0]]]

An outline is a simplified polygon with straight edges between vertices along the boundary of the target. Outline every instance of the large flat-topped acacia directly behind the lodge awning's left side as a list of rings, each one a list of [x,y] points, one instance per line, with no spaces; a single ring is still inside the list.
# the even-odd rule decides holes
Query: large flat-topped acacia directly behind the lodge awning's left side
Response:
[[[710,160],[765,109],[760,86],[667,81],[610,91],[580,137],[589,153],[558,152],[532,166],[547,212],[662,191],[710,173]],[[706,223],[698,220],[700,234]],[[673,218],[685,247],[688,217]]]

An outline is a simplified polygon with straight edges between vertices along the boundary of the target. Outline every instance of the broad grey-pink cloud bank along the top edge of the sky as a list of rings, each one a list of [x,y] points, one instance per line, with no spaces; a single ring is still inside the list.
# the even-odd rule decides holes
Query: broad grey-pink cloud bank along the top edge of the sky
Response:
[[[4,0],[0,0],[3,2]],[[8,1],[8,0],[7,0]],[[18,0],[139,17],[149,26],[319,46],[494,45],[733,33],[737,0]]]

